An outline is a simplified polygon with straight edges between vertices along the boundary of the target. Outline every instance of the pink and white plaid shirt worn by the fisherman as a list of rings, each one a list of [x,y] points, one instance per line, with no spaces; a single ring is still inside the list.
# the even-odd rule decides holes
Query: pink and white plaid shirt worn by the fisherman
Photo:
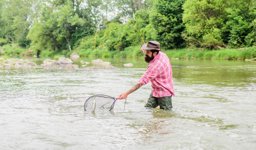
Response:
[[[159,51],[149,63],[146,73],[139,79],[142,85],[151,81],[152,95],[156,98],[175,96],[173,88],[173,73],[168,56]]]

